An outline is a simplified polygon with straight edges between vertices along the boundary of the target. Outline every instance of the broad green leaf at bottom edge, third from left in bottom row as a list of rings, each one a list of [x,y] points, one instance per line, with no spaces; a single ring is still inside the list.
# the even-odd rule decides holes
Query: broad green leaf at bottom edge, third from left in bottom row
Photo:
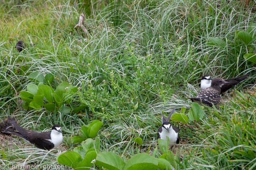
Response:
[[[96,165],[108,170],[123,170],[125,162],[116,153],[102,152],[96,157]]]

